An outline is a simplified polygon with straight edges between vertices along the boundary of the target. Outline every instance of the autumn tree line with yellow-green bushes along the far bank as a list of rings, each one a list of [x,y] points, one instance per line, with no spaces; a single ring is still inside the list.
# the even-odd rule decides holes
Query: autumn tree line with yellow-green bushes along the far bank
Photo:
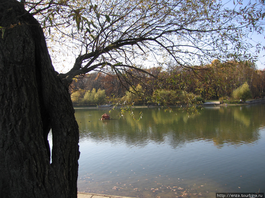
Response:
[[[254,63],[247,61],[221,63],[213,60],[209,65],[192,70],[170,63],[166,68],[144,70],[146,73],[130,69],[126,80],[114,72],[95,71],[77,76],[70,89],[72,102],[185,104],[201,103],[206,99],[237,102],[265,96],[264,70],[256,70]]]

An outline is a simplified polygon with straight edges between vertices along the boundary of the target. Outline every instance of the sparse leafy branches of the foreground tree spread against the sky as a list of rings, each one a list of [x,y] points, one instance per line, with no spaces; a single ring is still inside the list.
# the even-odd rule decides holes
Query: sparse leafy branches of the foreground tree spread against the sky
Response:
[[[249,48],[263,48],[249,43],[251,31],[263,31],[261,3],[239,9],[210,0],[34,0],[25,5],[42,21],[52,56],[75,56],[72,69],[61,74],[69,82],[92,70],[126,76],[125,67],[140,70],[147,60],[161,65],[174,60],[187,69],[213,59],[249,60]]]

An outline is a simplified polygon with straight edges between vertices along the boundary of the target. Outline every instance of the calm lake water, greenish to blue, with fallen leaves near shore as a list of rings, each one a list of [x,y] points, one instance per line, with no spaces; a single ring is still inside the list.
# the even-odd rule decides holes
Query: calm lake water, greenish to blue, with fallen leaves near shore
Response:
[[[75,109],[78,191],[128,197],[215,197],[265,192],[264,104],[209,106],[200,114],[135,108]],[[103,114],[111,120],[100,120]]]

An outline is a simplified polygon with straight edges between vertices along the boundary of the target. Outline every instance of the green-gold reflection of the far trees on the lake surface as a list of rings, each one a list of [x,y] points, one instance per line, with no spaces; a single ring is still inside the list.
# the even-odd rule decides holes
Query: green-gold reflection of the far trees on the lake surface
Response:
[[[176,109],[135,108],[135,115],[143,113],[143,119],[134,121],[130,115],[117,117],[111,111],[112,120],[101,121],[101,115],[108,110],[76,109],[80,122],[80,141],[123,143],[142,147],[152,141],[157,144],[168,143],[173,148],[185,142],[203,139],[222,147],[224,144],[240,145],[253,143],[259,138],[259,128],[264,126],[264,106],[218,106],[204,107],[200,114],[187,116]]]

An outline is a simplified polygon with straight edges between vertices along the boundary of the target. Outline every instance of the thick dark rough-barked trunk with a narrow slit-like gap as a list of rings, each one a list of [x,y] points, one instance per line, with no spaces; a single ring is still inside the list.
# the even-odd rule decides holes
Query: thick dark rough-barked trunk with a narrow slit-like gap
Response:
[[[77,197],[78,125],[42,28],[16,0],[0,26],[0,197]]]

